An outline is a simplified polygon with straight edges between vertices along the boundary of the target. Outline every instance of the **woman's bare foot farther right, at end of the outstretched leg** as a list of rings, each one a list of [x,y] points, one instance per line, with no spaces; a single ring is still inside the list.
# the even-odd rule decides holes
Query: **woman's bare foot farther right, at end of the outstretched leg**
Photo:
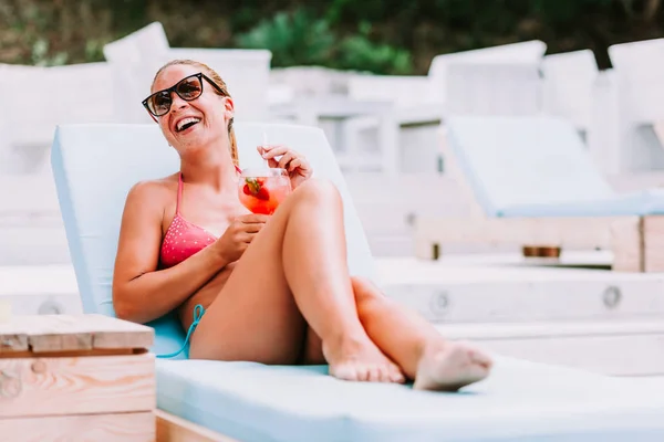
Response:
[[[466,343],[429,346],[417,366],[416,390],[457,391],[483,380],[491,370],[491,359]]]

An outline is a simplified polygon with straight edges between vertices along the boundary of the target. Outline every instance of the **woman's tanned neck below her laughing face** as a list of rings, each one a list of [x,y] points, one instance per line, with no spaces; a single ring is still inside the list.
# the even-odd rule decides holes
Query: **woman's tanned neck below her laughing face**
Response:
[[[187,152],[180,171],[188,183],[211,186],[216,191],[235,192],[237,172],[228,146],[217,145]]]

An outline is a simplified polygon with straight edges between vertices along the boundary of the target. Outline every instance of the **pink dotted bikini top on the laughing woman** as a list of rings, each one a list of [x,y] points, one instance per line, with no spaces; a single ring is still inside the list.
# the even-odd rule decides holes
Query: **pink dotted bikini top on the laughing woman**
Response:
[[[162,267],[168,269],[200,252],[217,240],[207,230],[190,223],[179,212],[183,198],[183,175],[179,173],[177,183],[177,201],[175,217],[164,235],[159,260]]]

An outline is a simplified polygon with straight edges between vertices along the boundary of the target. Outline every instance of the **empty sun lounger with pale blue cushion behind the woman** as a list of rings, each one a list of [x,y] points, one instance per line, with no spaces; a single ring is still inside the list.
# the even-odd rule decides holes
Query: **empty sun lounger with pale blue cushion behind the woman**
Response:
[[[455,117],[444,141],[476,206],[469,219],[418,219],[417,255],[449,243],[610,249],[614,270],[664,269],[664,189],[620,194],[572,124]]]

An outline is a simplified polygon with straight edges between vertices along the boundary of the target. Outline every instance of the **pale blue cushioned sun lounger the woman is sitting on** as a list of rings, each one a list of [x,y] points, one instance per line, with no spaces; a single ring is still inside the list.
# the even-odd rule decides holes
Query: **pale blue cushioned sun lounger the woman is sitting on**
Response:
[[[237,124],[242,165],[261,129],[310,159],[332,180],[345,208],[349,265],[373,274],[366,239],[332,150],[320,129]],[[52,165],[68,241],[86,313],[114,315],[111,281],[126,193],[138,180],[178,168],[155,125],[60,127]],[[257,158],[259,160],[259,158]],[[156,354],[177,350],[174,317],[152,323]],[[157,360],[162,428],[193,425],[241,441],[661,441],[664,397],[626,379],[497,357],[494,375],[459,393],[413,391],[409,386],[353,383],[326,367],[252,362]],[[186,434],[183,436],[183,434]],[[165,440],[176,436],[162,434]]]

